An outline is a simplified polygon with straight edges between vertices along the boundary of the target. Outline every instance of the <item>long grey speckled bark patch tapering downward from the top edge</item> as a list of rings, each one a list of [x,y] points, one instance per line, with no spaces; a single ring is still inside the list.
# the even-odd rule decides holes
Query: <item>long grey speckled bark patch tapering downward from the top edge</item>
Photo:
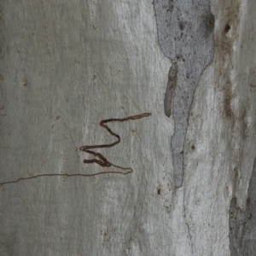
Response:
[[[210,0],[154,0],[154,11],[160,49],[172,60],[173,67],[177,65],[173,88],[169,83],[172,67],[169,72],[164,106],[166,116],[171,116],[172,112],[175,123],[172,159],[175,184],[180,187],[183,184],[183,144],[189,108],[201,73],[212,62],[214,54],[214,16]]]

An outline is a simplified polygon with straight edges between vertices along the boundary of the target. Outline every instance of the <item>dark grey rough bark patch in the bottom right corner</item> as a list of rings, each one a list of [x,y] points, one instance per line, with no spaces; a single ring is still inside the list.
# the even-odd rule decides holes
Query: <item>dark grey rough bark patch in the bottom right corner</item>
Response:
[[[230,204],[230,255],[255,255],[256,252],[256,158],[248,189],[247,208],[236,208],[236,199]]]

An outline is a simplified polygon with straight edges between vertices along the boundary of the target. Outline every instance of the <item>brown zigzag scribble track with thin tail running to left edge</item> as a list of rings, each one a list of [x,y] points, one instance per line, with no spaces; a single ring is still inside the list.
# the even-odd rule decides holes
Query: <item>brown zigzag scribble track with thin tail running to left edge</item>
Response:
[[[109,174],[109,173],[114,173],[114,174],[128,174],[128,173],[131,173],[133,172],[133,170],[129,167],[129,168],[125,168],[125,167],[121,167],[121,166],[116,166],[116,165],[113,165],[111,162],[109,162],[102,154],[100,153],[96,153],[94,151],[91,151],[89,149],[91,148],[111,148],[113,147],[114,145],[118,144],[120,142],[120,137],[118,134],[114,133],[113,131],[111,131],[111,129],[108,127],[108,125],[105,125],[105,123],[108,123],[108,122],[125,122],[127,120],[135,120],[135,119],[142,119],[143,117],[147,117],[151,115],[151,113],[142,113],[142,114],[137,114],[137,115],[133,115],[133,116],[130,116],[130,117],[127,117],[127,118],[124,118],[124,119],[105,119],[105,120],[102,120],[100,122],[100,125],[107,129],[107,131],[114,137],[117,137],[117,141],[114,142],[114,143],[111,143],[111,144],[102,144],[102,145],[92,145],[92,146],[82,146],[80,148],[80,150],[84,151],[84,152],[87,152],[89,154],[93,154],[96,156],[96,158],[98,159],[93,159],[93,160],[84,160],[84,163],[85,164],[91,164],[91,163],[96,163],[102,167],[109,167],[109,166],[115,166],[119,169],[123,169],[123,170],[130,170],[130,171],[127,171],[127,172],[114,172],[114,171],[108,171],[108,172],[96,172],[96,173],[92,173],[92,174],[83,174],[83,173],[74,173],[74,174],[68,174],[68,173],[52,173],[52,174],[38,174],[38,175],[34,175],[34,176],[31,176],[31,177],[20,177],[16,180],[13,180],[13,181],[9,181],[9,182],[3,182],[3,183],[0,183],[0,186],[4,185],[4,184],[9,184],[9,183],[18,183],[20,182],[21,180],[27,180],[27,179],[32,179],[32,178],[37,178],[37,177],[73,177],[73,176],[80,176],[80,177],[92,177],[92,176],[97,176],[97,175],[102,175],[102,174]]]

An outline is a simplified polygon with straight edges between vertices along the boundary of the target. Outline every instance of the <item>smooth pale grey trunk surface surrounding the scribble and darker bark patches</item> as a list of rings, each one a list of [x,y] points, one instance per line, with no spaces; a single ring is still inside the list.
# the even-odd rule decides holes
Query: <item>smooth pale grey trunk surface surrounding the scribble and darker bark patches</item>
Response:
[[[214,58],[195,90],[177,189],[171,62],[153,3],[1,3],[0,183],[119,171],[84,165],[79,147],[113,142],[102,119],[152,113],[109,124],[121,143],[98,150],[133,173],[3,184],[1,256],[230,255],[230,202],[246,209],[256,152],[256,3],[212,0],[211,11]]]

